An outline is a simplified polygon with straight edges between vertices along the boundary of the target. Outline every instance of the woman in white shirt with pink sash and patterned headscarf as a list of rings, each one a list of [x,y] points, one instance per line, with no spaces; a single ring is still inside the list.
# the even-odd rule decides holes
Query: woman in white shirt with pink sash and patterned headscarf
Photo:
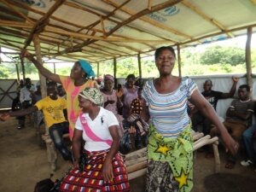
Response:
[[[73,135],[73,169],[64,177],[60,191],[130,191],[124,160],[119,150],[119,122],[100,107],[103,96],[96,88],[79,93],[79,114]],[[87,157],[79,164],[81,143]]]

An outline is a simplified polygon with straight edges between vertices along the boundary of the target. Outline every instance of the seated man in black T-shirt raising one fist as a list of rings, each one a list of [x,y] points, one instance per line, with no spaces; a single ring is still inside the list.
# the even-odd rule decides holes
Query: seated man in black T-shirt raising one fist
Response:
[[[209,79],[205,81],[204,91],[202,91],[201,94],[207,99],[208,102],[211,103],[215,111],[219,99],[226,99],[234,96],[236,92],[236,84],[238,82],[238,78],[233,77],[232,79],[233,85],[229,93],[212,90],[212,81]],[[190,116],[194,131],[198,131],[198,125],[202,125],[202,132],[204,133],[204,135],[208,135],[210,133],[212,128],[212,121],[204,117],[197,108],[193,108],[190,110]]]

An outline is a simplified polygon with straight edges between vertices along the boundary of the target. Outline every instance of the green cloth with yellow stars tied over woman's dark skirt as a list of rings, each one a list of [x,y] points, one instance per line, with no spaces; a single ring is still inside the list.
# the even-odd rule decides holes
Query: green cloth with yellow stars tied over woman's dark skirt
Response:
[[[177,138],[163,137],[156,131],[154,125],[150,125],[148,134],[148,160],[149,162],[150,160],[167,162],[172,172],[166,172],[165,175],[159,177],[169,177],[169,183],[173,183],[171,181],[173,177],[178,183],[179,192],[189,192],[193,187],[193,141],[190,125]],[[150,170],[152,167],[156,167],[157,169],[157,163],[154,166],[148,166],[148,172],[152,172]],[[157,180],[153,183],[155,186],[160,186],[161,179]],[[147,188],[149,189],[151,185],[150,180],[147,180],[147,182]],[[175,188],[175,186],[172,187]],[[169,190],[170,186],[168,187],[166,185],[166,189],[162,191]]]

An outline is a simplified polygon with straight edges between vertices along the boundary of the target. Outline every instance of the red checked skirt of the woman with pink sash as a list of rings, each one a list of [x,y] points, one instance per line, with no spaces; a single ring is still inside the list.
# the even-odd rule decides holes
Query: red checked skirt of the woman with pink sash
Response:
[[[105,191],[130,191],[130,184],[126,173],[124,160],[117,153],[112,161],[113,180],[107,182],[103,180],[102,166],[108,150],[89,152],[84,151],[87,155],[87,163],[84,171],[79,172],[78,168],[72,169],[63,178],[60,190],[61,192],[105,192]]]

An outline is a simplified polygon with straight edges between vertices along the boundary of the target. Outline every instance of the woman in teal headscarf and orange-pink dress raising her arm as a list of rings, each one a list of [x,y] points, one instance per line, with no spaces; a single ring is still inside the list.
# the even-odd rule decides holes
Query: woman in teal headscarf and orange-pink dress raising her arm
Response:
[[[79,92],[84,90],[85,87],[94,87],[96,84],[95,81],[90,79],[90,77],[95,76],[90,63],[84,60],[76,61],[71,69],[70,76],[62,76],[51,73],[26,49],[22,50],[21,55],[26,57],[29,61],[32,61],[35,67],[38,68],[38,71],[43,74],[45,78],[62,84],[67,93],[67,118],[69,122],[69,136],[72,139],[74,125],[79,117],[79,113],[81,112],[78,101]]]

